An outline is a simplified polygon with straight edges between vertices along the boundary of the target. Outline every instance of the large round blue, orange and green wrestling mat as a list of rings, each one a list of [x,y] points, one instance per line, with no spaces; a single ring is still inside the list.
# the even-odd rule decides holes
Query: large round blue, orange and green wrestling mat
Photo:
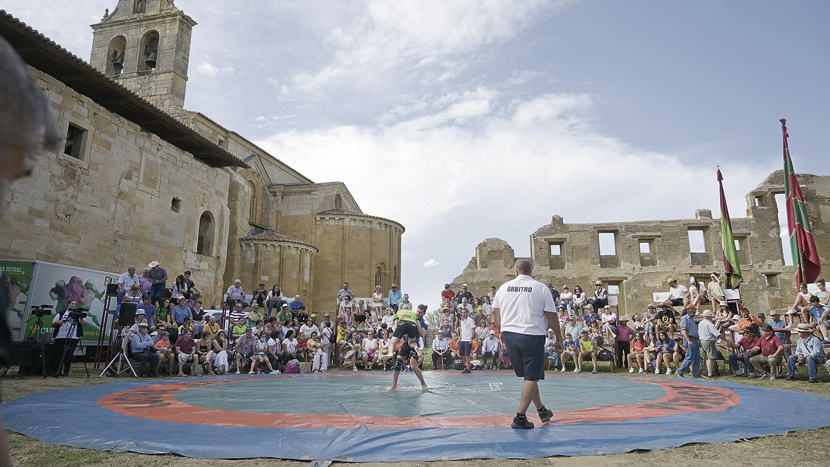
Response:
[[[830,425],[830,399],[809,393],[549,373],[540,393],[553,420],[540,425],[531,405],[535,430],[511,430],[522,386],[511,372],[425,376],[427,392],[412,373],[388,391],[388,372],[120,381],[25,396],[0,411],[7,429],[56,445],[346,462],[613,454]]]

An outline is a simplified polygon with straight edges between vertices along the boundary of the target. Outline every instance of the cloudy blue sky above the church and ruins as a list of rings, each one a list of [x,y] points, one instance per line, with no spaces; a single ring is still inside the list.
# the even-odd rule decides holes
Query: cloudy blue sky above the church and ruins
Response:
[[[0,7],[88,60],[115,3]],[[486,238],[529,256],[553,215],[718,217],[717,165],[745,215],[783,166],[782,117],[796,171],[830,174],[830,2],[176,6],[198,22],[185,108],[403,224],[413,302],[437,305]]]

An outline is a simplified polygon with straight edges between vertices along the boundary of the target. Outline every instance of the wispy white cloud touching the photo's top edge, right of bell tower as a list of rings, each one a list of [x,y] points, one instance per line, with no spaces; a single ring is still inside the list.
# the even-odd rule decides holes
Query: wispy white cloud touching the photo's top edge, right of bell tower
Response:
[[[420,0],[369,2],[361,14],[325,37],[331,59],[315,71],[291,76],[283,96],[319,93],[343,81],[364,81],[417,70],[419,81],[446,82],[466,69],[462,52],[513,38],[563,0]],[[421,76],[422,75],[422,76]],[[382,81],[382,80],[380,80]]]

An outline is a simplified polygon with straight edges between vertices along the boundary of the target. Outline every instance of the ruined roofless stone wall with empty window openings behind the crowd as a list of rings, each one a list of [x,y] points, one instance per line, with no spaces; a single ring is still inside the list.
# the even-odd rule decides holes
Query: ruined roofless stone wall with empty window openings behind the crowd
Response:
[[[830,268],[830,177],[798,175],[808,206],[813,236],[825,269]],[[782,310],[793,302],[793,268],[784,266],[779,237],[779,213],[774,195],[783,193],[781,171],[769,175],[747,194],[747,217],[732,214],[732,229],[740,244],[739,259],[745,283],[741,297],[754,311]],[[706,251],[691,253],[690,231],[701,230]],[[615,254],[601,255],[599,234],[613,233]],[[641,253],[641,243],[647,248]],[[652,302],[652,292],[666,292],[666,280],[686,281],[694,276],[708,282],[712,272],[722,272],[720,219],[709,209],[699,209],[693,219],[607,224],[565,224],[553,216],[530,236],[534,275],[561,290],[579,284],[590,296],[597,280],[619,288],[621,312],[642,312]],[[467,283],[471,292],[483,295],[491,285],[513,277],[513,249],[504,240],[488,238],[476,247],[464,272],[452,281],[458,289]]]

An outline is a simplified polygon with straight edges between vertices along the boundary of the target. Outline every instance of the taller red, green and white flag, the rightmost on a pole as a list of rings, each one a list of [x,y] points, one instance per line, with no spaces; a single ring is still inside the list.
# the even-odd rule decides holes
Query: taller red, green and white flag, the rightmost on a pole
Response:
[[[789,228],[789,248],[793,251],[793,268],[795,283],[812,283],[822,272],[818,249],[810,230],[810,219],[804,195],[793,170],[793,160],[789,158],[787,144],[787,120],[781,119],[781,133],[784,135],[784,195],[787,203],[787,227]]]

